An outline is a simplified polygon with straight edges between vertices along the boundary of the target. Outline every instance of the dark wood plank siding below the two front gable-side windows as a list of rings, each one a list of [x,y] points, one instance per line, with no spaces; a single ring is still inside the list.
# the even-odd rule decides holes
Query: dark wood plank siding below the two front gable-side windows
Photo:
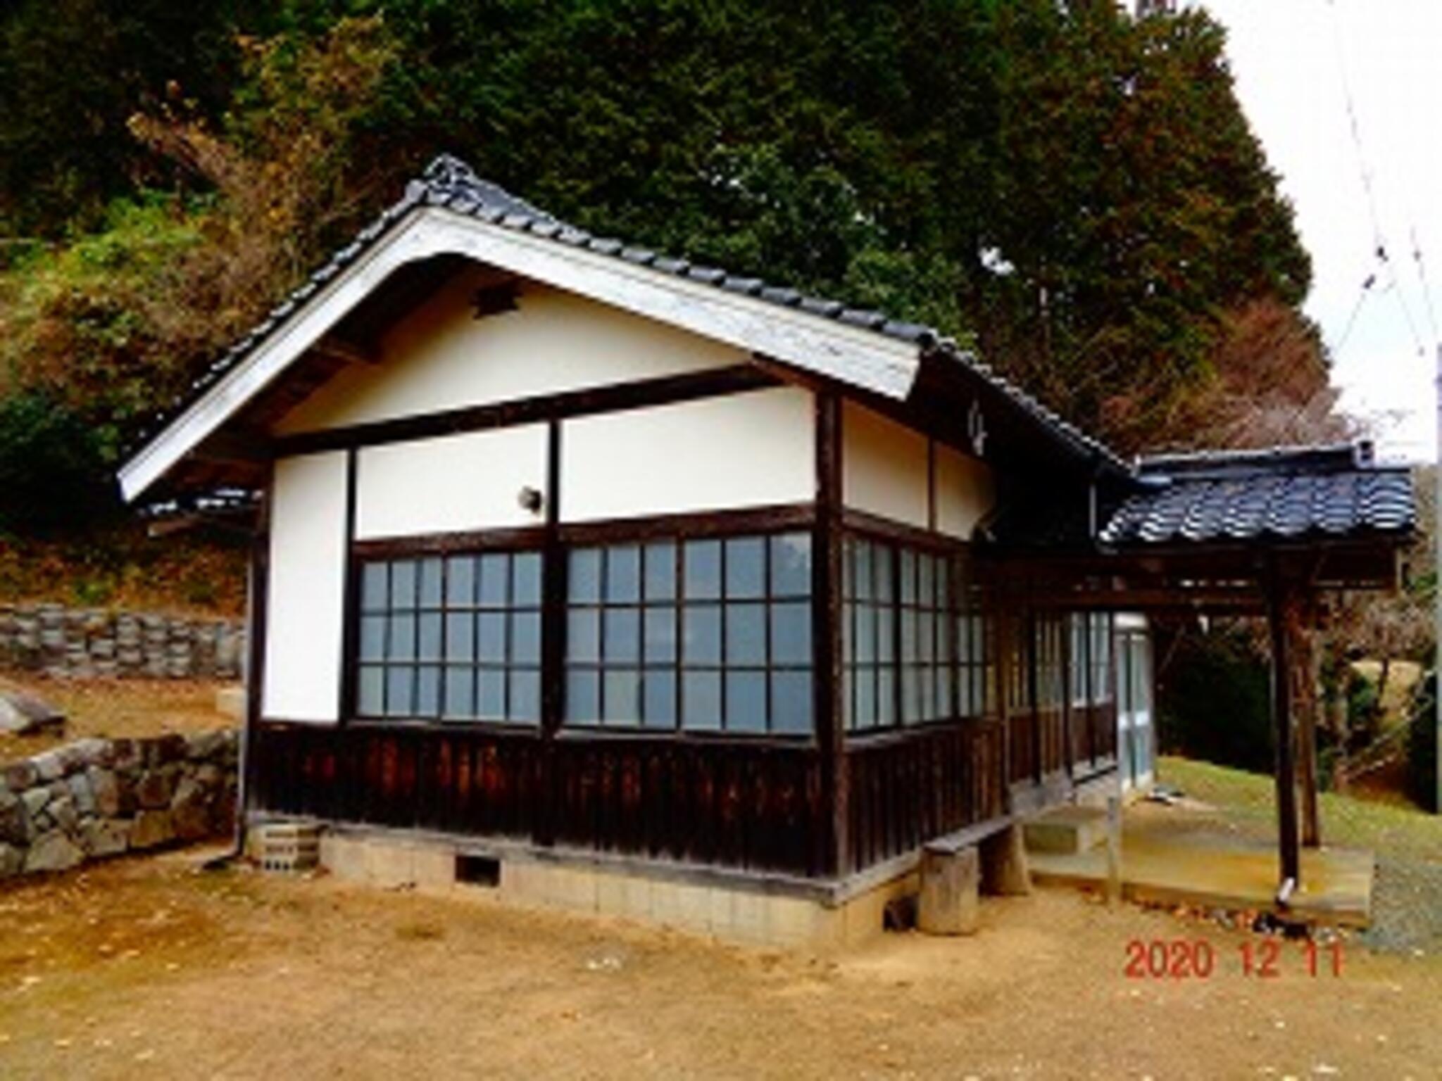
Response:
[[[254,754],[252,810],[831,873],[819,755],[809,744],[265,722]]]

